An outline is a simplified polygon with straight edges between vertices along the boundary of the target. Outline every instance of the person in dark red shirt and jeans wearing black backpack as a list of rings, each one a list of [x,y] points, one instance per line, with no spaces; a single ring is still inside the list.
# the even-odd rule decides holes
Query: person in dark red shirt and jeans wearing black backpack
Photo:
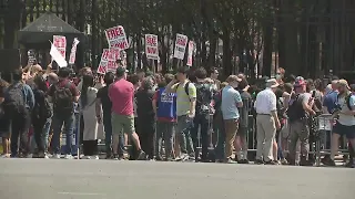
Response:
[[[60,135],[64,125],[65,134],[65,159],[72,159],[72,138],[74,130],[74,103],[78,103],[79,91],[75,84],[69,80],[71,69],[61,67],[58,72],[59,81],[49,88],[49,101],[53,103],[53,138],[52,149],[53,158],[61,158]]]

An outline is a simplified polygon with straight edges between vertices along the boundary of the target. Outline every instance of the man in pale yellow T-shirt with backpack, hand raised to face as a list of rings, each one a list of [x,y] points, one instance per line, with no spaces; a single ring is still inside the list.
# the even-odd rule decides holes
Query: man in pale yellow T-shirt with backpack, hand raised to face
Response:
[[[194,156],[191,128],[195,117],[196,87],[187,78],[187,67],[179,67],[178,74],[166,85],[166,93],[176,93],[176,116],[179,143],[181,149],[181,160],[187,160]]]

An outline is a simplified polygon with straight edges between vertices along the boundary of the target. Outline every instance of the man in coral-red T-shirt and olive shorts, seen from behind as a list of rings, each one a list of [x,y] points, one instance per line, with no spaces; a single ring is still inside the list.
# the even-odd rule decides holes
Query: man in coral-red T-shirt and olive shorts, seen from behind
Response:
[[[132,136],[136,150],[139,150],[138,159],[144,159],[145,153],[141,148],[140,137],[136,135],[134,128],[134,88],[133,84],[126,81],[128,72],[129,71],[125,67],[118,67],[115,72],[116,82],[112,83],[109,87],[109,97],[112,103],[111,124],[113,156],[118,159],[120,135],[126,133]]]

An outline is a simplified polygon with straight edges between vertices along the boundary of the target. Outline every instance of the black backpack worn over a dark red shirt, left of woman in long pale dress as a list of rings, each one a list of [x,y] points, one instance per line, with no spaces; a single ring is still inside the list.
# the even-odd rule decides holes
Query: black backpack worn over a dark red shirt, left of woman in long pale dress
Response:
[[[53,111],[55,115],[67,117],[73,114],[73,95],[70,91],[71,82],[60,87],[59,84],[54,85],[55,91],[53,94]]]

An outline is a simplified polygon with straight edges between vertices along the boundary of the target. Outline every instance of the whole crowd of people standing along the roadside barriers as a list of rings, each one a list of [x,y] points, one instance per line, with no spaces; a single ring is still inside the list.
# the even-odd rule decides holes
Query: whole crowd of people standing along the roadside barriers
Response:
[[[322,163],[335,166],[346,136],[347,166],[355,166],[355,86],[335,76],[327,85],[280,70],[258,86],[244,74],[221,83],[217,69],[203,67],[179,67],[175,75],[129,75],[122,66],[99,75],[84,67],[77,76],[69,67],[54,73],[34,65],[13,71],[11,84],[0,80],[3,157],[71,159],[80,129],[83,159],[99,159],[104,140],[106,159],[126,159],[130,143],[131,159],[248,164],[253,123],[255,164],[312,166],[316,116],[332,114],[331,155]]]

